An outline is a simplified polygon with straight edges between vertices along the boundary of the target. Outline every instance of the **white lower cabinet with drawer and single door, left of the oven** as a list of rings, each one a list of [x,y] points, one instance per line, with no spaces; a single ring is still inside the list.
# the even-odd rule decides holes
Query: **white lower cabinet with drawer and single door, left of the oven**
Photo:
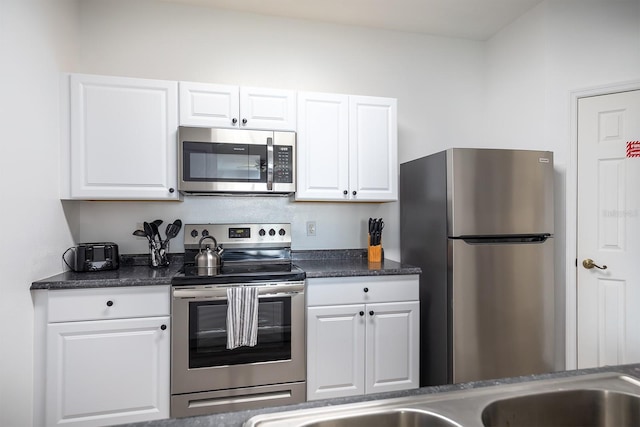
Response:
[[[36,294],[35,426],[169,417],[168,286]]]

